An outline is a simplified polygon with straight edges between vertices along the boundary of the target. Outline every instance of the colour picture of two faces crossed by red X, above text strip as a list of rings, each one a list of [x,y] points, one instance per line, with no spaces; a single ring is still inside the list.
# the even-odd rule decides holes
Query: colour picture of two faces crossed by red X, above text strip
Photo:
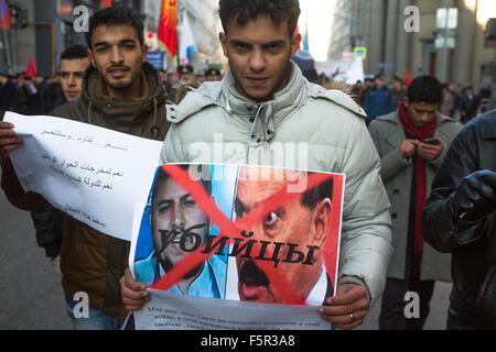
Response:
[[[343,186],[339,174],[164,165],[138,238],[152,250],[134,255],[136,278],[198,297],[321,305],[336,283]]]

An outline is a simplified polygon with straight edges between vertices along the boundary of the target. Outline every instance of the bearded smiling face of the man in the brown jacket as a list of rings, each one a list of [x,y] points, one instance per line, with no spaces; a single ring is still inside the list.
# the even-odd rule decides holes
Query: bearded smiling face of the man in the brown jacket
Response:
[[[128,89],[136,85],[147,53],[147,45],[140,45],[138,33],[131,25],[101,24],[91,35],[89,58],[110,89]]]

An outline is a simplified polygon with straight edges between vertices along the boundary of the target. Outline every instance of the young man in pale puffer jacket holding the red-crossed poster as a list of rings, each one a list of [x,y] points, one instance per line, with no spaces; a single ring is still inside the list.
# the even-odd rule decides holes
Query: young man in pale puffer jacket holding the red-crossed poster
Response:
[[[335,296],[319,309],[335,327],[353,329],[380,297],[391,254],[389,201],[365,112],[344,92],[310,84],[290,61],[301,41],[296,0],[220,0],[219,13],[230,68],[220,82],[205,82],[171,109],[161,164],[345,174],[339,275]],[[129,271],[121,287],[129,310],[149,297]]]

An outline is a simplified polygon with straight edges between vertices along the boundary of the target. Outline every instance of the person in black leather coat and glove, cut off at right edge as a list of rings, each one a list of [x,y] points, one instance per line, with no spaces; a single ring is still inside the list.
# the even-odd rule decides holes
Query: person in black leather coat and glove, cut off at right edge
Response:
[[[453,253],[448,329],[496,329],[496,110],[453,141],[423,208],[423,235]]]

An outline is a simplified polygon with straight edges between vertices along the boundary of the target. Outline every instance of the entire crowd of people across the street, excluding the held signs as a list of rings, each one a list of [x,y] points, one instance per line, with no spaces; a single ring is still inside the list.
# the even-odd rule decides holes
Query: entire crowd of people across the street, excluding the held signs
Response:
[[[494,92],[467,87],[459,96],[452,84],[425,75],[408,87],[396,77],[389,88],[381,75],[363,87],[333,82],[299,51],[299,14],[296,0],[220,0],[229,69],[194,75],[188,65],[160,73],[147,62],[141,19],[127,9],[100,10],[89,20],[87,48],[63,54],[55,81],[2,79],[1,109],[161,141],[159,165],[195,162],[188,146],[215,150],[219,131],[246,147],[204,163],[226,157],[283,167],[262,146],[306,143],[309,169],[346,175],[338,278],[319,307],[322,319],[353,329],[380,302],[381,329],[422,329],[434,282],[452,280],[446,327],[495,329]],[[182,107],[186,95],[187,109],[166,109]],[[60,220],[42,196],[24,193],[9,156],[23,143],[13,128],[0,122],[1,186],[13,206],[33,215],[39,243],[61,270],[74,327],[122,328],[127,314],[150,299],[130,274],[130,243],[68,215]],[[174,229],[184,232],[184,223]],[[421,309],[409,319],[405,294],[412,290]],[[89,317],[72,314],[78,292],[89,296]]]

